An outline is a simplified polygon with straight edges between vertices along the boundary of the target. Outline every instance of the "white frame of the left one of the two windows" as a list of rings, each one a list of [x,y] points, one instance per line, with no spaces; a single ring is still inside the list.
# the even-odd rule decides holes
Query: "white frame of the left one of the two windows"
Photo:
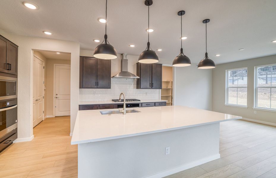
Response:
[[[228,80],[228,71],[232,71],[232,70],[242,70],[242,69],[247,69],[247,67],[243,67],[243,68],[238,68],[238,69],[227,69],[225,71],[225,106],[232,106],[232,107],[240,107],[240,108],[247,108],[247,105],[239,105],[239,104],[229,104],[228,103],[228,88],[247,88],[248,86],[246,87],[239,87],[239,86],[236,86],[236,87],[229,87],[229,80]],[[247,69],[247,73],[248,73],[248,69]],[[248,82],[248,75],[247,75],[247,82]],[[246,83],[247,83],[246,82]],[[238,91],[237,91],[238,92]],[[238,96],[238,95],[237,95]],[[238,97],[237,97],[238,99]],[[247,100],[247,97],[246,97],[246,100]],[[247,102],[246,102],[247,104]]]

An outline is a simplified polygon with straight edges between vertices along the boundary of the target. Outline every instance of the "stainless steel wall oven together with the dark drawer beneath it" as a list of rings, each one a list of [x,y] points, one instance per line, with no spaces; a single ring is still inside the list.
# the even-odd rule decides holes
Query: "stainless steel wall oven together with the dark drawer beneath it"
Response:
[[[0,101],[0,152],[17,138],[17,98]]]

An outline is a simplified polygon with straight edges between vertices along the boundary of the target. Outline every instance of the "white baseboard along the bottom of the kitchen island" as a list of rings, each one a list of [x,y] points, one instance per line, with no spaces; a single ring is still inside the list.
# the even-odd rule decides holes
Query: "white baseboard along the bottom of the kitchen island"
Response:
[[[185,164],[185,165],[179,166],[177,168],[170,169],[170,170],[164,171],[164,172],[160,172],[158,174],[154,174],[154,175],[151,175],[151,176],[148,176],[148,177],[145,177],[145,178],[160,178],[160,177],[165,177],[165,176],[168,176],[168,175],[171,175],[171,174],[175,174],[177,172],[184,171],[186,169],[190,169],[190,168],[193,168],[195,166],[207,163],[209,161],[216,160],[218,158],[220,158],[220,154],[216,154],[216,155],[213,155],[213,156],[210,156],[210,157],[207,157],[207,158],[203,158],[203,159],[194,161],[192,163]]]

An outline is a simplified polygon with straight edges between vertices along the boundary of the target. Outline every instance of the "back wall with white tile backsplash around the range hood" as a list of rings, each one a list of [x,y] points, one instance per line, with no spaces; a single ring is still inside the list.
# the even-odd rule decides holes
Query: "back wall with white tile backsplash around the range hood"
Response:
[[[94,51],[80,50],[81,56],[92,57]],[[111,76],[121,71],[122,55],[117,54],[118,58],[111,60]],[[127,55],[128,71],[136,75],[136,63],[138,56]],[[80,101],[107,101],[119,98],[124,92],[128,99],[159,99],[160,90],[158,89],[136,89],[136,79],[111,78],[111,89],[80,89]]]

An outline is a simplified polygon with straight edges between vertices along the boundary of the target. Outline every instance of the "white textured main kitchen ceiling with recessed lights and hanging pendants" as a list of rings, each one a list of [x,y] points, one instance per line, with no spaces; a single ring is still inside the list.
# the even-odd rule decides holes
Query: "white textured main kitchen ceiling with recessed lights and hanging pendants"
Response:
[[[94,50],[103,40],[104,0],[29,0],[39,6],[27,9],[21,0],[0,1],[3,32],[78,41],[81,49]],[[207,24],[209,58],[226,63],[276,54],[275,0],[153,0],[150,6],[151,48],[159,58],[173,61],[180,52],[179,10],[183,16],[184,53],[193,63],[204,58]],[[147,7],[144,0],[108,0],[108,41],[118,53],[139,55],[147,42]],[[42,31],[51,31],[48,36]],[[135,44],[134,48],[129,44]],[[245,48],[243,51],[238,49]],[[215,54],[221,54],[216,57]],[[162,62],[162,60],[160,60]]]

